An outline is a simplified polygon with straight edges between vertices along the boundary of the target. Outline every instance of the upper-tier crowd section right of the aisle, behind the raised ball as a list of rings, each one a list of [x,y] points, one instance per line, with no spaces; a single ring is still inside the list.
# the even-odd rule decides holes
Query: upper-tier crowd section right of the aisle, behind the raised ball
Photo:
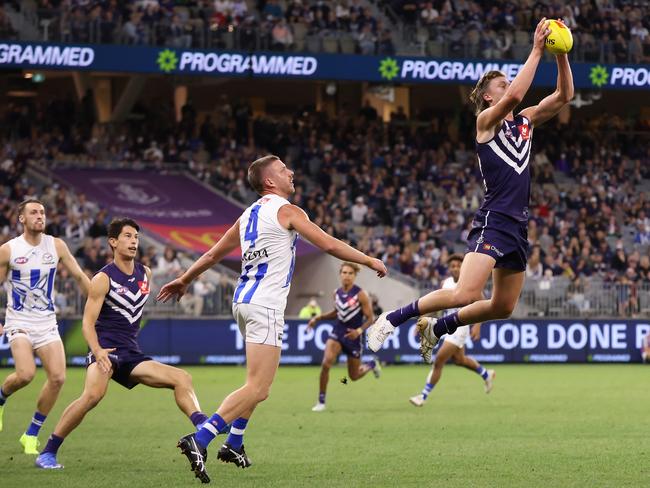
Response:
[[[402,19],[407,36],[444,43],[450,56],[509,59],[527,53],[542,17],[562,19],[586,61],[647,63],[650,16],[647,2],[552,0],[382,0]],[[413,27],[418,26],[419,31]]]

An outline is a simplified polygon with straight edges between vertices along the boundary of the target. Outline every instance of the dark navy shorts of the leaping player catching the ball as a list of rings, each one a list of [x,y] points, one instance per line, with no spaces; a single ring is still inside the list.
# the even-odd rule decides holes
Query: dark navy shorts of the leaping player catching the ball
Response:
[[[528,259],[528,223],[495,212],[478,212],[467,236],[467,252],[496,260],[495,268],[525,271]]]

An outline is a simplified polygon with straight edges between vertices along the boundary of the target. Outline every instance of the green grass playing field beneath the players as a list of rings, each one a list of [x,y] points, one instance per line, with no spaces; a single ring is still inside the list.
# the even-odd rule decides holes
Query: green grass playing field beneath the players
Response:
[[[310,411],[318,369],[283,367],[249,424],[247,470],[209,451],[212,486],[233,487],[605,487],[650,485],[650,368],[640,365],[498,366],[494,391],[449,366],[429,403],[412,407],[425,366],[384,369],[380,380],[341,384],[328,410]],[[4,377],[8,369],[0,370]],[[191,368],[206,412],[239,386],[239,367]],[[70,369],[42,441],[81,391]],[[42,373],[14,395],[0,433],[0,486],[199,486],[177,438],[191,425],[167,390],[111,384],[59,452],[63,471],[33,467],[18,438],[29,423]],[[218,440],[223,439],[222,437]]]

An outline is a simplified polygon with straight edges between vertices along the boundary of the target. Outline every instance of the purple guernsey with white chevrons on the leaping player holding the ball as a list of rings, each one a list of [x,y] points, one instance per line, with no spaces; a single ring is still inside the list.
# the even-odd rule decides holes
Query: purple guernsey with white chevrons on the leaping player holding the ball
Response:
[[[485,186],[480,212],[496,212],[528,222],[533,126],[519,114],[504,120],[488,142],[476,143],[478,164]]]

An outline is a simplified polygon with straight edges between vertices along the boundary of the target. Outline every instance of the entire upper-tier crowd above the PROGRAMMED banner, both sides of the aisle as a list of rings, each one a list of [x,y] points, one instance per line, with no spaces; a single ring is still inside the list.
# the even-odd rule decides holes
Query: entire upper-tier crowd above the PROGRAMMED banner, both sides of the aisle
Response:
[[[365,0],[39,0],[11,2],[49,40],[177,48],[272,49],[393,54],[393,32],[433,56],[520,59],[538,19],[561,18],[585,61],[650,61],[647,2],[381,0],[389,29]],[[16,29],[0,9],[0,31]],[[46,32],[47,31],[47,32]],[[440,46],[436,48],[435,46]]]

